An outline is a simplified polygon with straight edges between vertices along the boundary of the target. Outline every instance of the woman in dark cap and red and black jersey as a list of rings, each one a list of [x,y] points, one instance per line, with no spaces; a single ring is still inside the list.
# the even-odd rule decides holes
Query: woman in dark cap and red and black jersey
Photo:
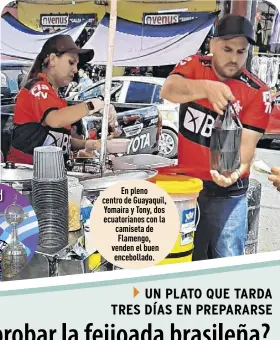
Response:
[[[94,56],[93,50],[80,49],[69,35],[56,35],[46,41],[20,90],[14,111],[14,131],[8,160],[33,164],[34,148],[58,146],[65,161],[71,150],[92,151],[100,147],[96,140],[71,138],[71,124],[104,108],[100,99],[90,99],[73,106],[58,94],[82,65]],[[114,124],[116,117],[109,117]]]

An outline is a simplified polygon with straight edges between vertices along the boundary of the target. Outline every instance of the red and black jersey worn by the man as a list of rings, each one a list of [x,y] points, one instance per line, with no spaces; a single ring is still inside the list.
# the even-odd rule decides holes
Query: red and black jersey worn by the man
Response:
[[[198,55],[183,59],[171,74],[188,79],[220,81],[211,67],[211,58]],[[246,69],[238,78],[224,83],[236,98],[233,105],[243,128],[264,133],[271,113],[269,87]],[[212,181],[210,138],[218,114],[207,99],[201,99],[181,104],[179,115],[178,166],[187,168],[189,176]]]

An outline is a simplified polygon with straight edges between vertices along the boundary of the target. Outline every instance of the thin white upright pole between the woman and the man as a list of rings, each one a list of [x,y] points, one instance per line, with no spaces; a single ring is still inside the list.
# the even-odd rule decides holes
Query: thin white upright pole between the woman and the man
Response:
[[[100,150],[100,165],[101,171],[105,170],[106,163],[106,149],[107,149],[107,135],[108,135],[108,116],[111,101],[111,83],[113,73],[113,56],[114,56],[114,40],[117,27],[117,0],[111,0],[110,10],[110,26],[108,38],[108,54],[106,65],[106,78],[105,78],[105,98],[104,98],[104,112],[102,118],[101,130],[101,150]]]

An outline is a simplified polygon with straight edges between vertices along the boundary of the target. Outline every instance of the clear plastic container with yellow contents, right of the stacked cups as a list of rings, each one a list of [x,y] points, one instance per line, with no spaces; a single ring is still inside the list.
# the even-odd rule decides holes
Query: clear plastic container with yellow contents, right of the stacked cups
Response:
[[[75,177],[68,177],[68,215],[69,215],[69,231],[77,231],[81,229],[81,200],[83,186]]]

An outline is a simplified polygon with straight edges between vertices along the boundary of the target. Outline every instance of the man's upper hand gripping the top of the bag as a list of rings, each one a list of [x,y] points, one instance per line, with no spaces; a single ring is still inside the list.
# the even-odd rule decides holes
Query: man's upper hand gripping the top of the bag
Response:
[[[219,115],[223,115],[228,102],[235,100],[231,89],[224,83],[212,80],[206,81],[204,86],[206,98],[212,104],[215,112]]]

